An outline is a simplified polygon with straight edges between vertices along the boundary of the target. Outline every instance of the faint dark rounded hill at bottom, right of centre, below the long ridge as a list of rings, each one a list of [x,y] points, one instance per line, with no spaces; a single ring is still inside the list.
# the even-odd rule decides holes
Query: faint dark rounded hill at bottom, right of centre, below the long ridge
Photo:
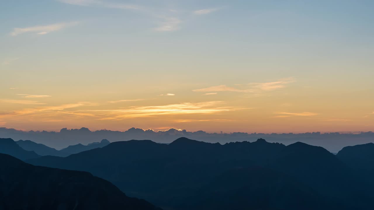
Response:
[[[305,183],[262,167],[228,170],[191,196],[190,203],[180,209],[315,210],[342,207],[329,203]]]

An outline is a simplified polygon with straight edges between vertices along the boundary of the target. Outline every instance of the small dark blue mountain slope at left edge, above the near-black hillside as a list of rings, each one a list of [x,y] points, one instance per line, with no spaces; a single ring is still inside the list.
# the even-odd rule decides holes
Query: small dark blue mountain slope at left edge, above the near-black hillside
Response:
[[[22,149],[13,139],[9,138],[0,138],[0,153],[12,155],[21,160],[39,157],[39,155],[33,151]]]

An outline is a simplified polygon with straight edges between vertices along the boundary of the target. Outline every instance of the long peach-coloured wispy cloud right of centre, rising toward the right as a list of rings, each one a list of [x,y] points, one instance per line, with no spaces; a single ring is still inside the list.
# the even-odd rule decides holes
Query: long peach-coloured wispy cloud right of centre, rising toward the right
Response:
[[[229,87],[227,85],[211,86],[202,89],[192,90],[194,92],[241,92],[241,93],[263,93],[272,90],[285,88],[287,84],[293,83],[294,77],[283,78],[273,82],[249,83],[246,85],[237,85],[238,87]]]

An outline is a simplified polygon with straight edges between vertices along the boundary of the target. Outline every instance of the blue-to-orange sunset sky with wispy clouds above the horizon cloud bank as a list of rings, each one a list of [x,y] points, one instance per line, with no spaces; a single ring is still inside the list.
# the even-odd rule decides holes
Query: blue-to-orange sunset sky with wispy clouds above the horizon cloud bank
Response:
[[[0,4],[1,127],[374,130],[374,1]]]

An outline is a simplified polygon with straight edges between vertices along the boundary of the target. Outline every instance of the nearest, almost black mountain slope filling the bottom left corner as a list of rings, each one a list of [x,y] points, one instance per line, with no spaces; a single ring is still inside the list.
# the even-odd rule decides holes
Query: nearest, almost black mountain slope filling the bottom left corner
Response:
[[[6,154],[0,161],[0,209],[157,209],[87,172],[32,166]]]

